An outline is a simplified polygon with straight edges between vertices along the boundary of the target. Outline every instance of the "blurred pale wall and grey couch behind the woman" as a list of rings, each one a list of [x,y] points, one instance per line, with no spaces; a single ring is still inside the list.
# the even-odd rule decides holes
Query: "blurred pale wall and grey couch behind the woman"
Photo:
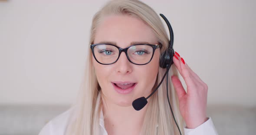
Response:
[[[107,1],[0,0],[0,135],[36,135],[75,101]],[[256,1],[141,1],[167,17],[174,50],[208,84],[218,133],[255,134]]]

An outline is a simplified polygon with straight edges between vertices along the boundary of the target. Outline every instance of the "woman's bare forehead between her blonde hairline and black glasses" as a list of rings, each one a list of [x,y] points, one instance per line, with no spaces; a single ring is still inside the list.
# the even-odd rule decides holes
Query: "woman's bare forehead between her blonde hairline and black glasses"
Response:
[[[143,21],[128,15],[106,16],[98,25],[94,43],[116,42],[120,47],[127,47],[131,42],[157,44],[157,38]]]

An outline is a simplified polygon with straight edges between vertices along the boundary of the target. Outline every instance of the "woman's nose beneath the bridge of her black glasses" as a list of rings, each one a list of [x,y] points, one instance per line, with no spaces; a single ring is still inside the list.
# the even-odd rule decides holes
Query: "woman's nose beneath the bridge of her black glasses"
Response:
[[[119,74],[130,74],[132,72],[132,63],[128,60],[125,52],[121,52],[116,64],[116,72]]]

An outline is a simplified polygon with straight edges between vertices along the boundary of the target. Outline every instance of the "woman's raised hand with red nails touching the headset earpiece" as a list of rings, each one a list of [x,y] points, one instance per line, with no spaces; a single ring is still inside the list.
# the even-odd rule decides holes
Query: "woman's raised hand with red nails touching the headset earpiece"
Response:
[[[194,129],[207,121],[207,91],[208,87],[198,76],[188,67],[184,59],[175,51],[174,64],[180,72],[187,85],[187,93],[177,76],[172,76],[171,80],[177,92],[180,102],[180,112],[188,129]]]

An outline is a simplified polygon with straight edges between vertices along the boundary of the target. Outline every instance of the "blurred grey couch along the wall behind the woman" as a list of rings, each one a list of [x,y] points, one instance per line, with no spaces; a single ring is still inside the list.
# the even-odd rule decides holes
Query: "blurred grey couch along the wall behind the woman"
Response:
[[[68,106],[0,105],[0,135],[38,135]],[[256,135],[256,107],[208,106],[219,135]]]

